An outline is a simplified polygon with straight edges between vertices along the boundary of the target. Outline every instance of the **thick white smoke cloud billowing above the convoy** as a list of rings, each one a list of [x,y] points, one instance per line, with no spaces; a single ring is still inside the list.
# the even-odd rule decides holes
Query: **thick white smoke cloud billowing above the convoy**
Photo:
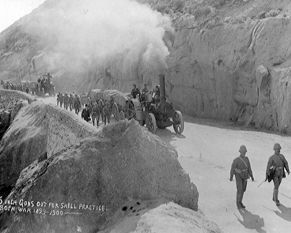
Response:
[[[134,0],[48,0],[41,8],[45,14],[33,12],[29,28],[51,44],[46,54],[50,69],[81,71],[116,56],[127,63],[167,67],[169,50],[162,38],[171,21],[147,5]]]

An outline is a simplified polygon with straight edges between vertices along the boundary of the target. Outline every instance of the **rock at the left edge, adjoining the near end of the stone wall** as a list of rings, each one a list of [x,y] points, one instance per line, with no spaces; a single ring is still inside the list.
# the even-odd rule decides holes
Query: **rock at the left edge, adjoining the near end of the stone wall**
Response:
[[[14,120],[0,144],[0,184],[15,186],[21,170],[46,154],[46,112],[42,101],[20,102],[11,111]]]

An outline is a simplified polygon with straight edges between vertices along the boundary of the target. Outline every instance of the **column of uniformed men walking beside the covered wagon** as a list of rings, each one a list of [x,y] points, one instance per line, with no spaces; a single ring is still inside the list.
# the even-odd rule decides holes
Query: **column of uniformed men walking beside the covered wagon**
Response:
[[[79,112],[82,108],[81,104],[81,97],[74,92],[70,95],[65,93],[64,95],[59,92],[57,95],[57,106],[60,107],[64,104],[64,109],[72,111],[75,110],[75,113],[79,115]],[[99,119],[101,116],[102,122],[104,122],[104,125],[106,125],[106,119],[107,122],[110,123],[110,116],[112,115],[111,108],[109,106],[108,101],[103,100],[96,100],[95,103],[93,103],[92,100],[89,98],[87,99],[87,103],[85,104],[85,108],[81,112],[81,117],[86,120],[87,122],[91,120],[93,122],[93,126],[95,126],[95,119],[97,121],[97,127],[99,126]],[[90,118],[91,116],[91,118]]]

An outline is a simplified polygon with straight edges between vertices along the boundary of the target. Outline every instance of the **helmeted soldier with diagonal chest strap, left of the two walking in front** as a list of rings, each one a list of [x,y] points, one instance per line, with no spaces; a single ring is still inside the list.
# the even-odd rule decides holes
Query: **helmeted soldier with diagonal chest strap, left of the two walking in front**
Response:
[[[246,190],[247,179],[250,177],[252,181],[254,181],[253,172],[251,168],[250,161],[248,157],[245,157],[245,153],[247,152],[246,147],[242,145],[240,147],[239,152],[241,153],[239,157],[233,160],[230,170],[230,178],[232,181],[233,175],[235,174],[236,186],[237,186],[237,200],[236,204],[239,209],[245,208],[242,204],[243,193]]]

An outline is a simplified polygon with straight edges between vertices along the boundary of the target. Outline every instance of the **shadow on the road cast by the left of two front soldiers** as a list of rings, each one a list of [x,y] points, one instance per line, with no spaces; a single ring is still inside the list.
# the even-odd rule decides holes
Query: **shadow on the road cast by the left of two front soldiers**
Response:
[[[239,209],[240,214],[242,215],[243,221],[238,218],[238,221],[248,229],[254,229],[259,233],[266,233],[265,230],[261,229],[265,223],[264,219],[259,215],[253,215],[251,212],[246,209]]]

